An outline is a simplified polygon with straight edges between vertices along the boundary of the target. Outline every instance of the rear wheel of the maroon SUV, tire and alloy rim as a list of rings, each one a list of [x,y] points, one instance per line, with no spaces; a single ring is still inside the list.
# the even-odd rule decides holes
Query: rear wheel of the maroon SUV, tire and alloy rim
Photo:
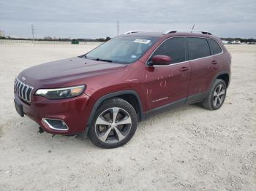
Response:
[[[221,108],[225,101],[227,93],[227,85],[222,79],[216,79],[214,85],[212,85],[211,90],[205,101],[201,105],[209,110],[217,110]]]

